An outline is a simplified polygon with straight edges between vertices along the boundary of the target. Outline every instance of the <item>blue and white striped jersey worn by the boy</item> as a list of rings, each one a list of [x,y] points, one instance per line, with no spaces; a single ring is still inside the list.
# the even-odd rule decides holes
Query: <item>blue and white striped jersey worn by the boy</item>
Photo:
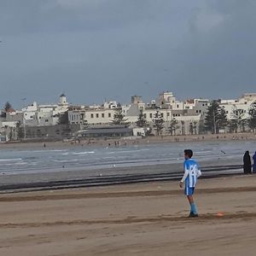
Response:
[[[185,160],[183,167],[184,175],[181,181],[185,182],[186,188],[195,188],[197,178],[201,176],[197,162],[193,159]]]

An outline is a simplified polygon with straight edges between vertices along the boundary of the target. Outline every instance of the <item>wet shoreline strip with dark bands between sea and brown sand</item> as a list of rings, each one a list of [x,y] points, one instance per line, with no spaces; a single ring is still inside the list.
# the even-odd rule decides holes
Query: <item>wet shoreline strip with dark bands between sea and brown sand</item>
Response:
[[[205,161],[201,166],[202,179],[242,175],[242,166],[224,161]],[[78,189],[131,183],[160,183],[178,180],[183,176],[182,164],[161,164],[153,166],[119,167],[97,169],[87,172],[38,172],[1,175],[0,194],[20,191]]]

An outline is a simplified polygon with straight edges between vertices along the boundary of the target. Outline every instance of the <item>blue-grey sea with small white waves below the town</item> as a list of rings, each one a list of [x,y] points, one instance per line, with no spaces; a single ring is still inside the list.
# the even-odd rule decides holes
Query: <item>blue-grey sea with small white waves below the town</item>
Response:
[[[154,166],[183,162],[183,149],[191,148],[199,162],[226,160],[241,163],[246,150],[252,154],[256,143],[249,141],[214,141],[160,143],[122,147],[70,146],[69,148],[0,148],[0,173],[67,172],[104,170],[119,167]]]

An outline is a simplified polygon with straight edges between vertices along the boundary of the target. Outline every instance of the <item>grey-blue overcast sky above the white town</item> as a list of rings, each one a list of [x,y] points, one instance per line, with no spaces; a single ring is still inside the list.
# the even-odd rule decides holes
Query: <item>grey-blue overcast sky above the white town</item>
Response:
[[[0,0],[0,105],[236,98],[255,31],[255,0]]]

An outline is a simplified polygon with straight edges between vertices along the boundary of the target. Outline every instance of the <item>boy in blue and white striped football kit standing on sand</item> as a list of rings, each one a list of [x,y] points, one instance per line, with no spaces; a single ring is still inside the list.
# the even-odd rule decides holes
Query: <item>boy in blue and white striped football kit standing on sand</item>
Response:
[[[195,185],[197,183],[197,178],[201,176],[201,171],[198,169],[198,164],[195,160],[192,159],[192,156],[193,151],[191,149],[184,150],[184,175],[179,183],[179,186],[182,189],[184,184],[184,194],[187,195],[190,204],[189,217],[198,217],[193,194]]]

